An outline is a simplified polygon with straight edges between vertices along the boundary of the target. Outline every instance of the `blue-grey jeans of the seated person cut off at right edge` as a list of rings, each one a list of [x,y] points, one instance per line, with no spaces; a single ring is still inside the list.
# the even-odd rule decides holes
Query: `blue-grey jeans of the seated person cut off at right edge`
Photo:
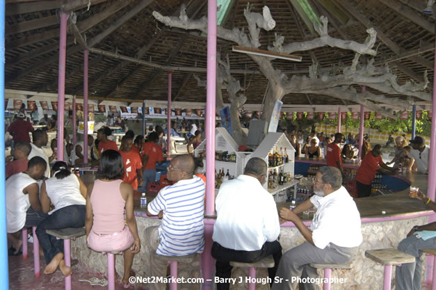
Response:
[[[417,261],[396,267],[395,289],[396,290],[421,290],[422,280],[422,254],[421,249],[435,249],[436,238],[423,239],[417,238],[414,234],[403,239],[398,244],[398,250],[414,256]]]

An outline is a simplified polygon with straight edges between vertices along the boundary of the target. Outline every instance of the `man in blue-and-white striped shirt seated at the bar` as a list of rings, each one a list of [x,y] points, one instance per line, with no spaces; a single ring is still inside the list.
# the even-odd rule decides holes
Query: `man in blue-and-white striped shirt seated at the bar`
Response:
[[[147,215],[162,218],[161,225],[145,229],[145,243],[150,252],[165,256],[183,256],[204,250],[204,182],[194,175],[191,155],[171,160],[167,178],[175,182],[159,191],[148,204]],[[168,263],[150,255],[151,276],[166,277]],[[150,284],[163,290],[165,284]]]

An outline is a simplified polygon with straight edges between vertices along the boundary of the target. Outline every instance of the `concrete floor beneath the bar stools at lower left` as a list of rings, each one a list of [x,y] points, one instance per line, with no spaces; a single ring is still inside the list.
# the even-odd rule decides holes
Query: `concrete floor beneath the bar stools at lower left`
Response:
[[[65,289],[64,276],[60,271],[56,271],[51,275],[44,275],[42,271],[45,268],[44,258],[40,258],[41,276],[35,278],[33,273],[33,250],[29,246],[29,258],[23,259],[22,256],[9,257],[9,289],[10,290],[63,290]],[[107,289],[101,286],[91,286],[88,282],[79,282],[79,279],[89,279],[90,277],[106,278],[106,273],[90,273],[88,269],[81,266],[80,262],[72,268],[72,289],[81,290],[98,290]],[[120,282],[115,281],[115,289],[124,289]],[[131,285],[129,289],[142,289],[143,287],[134,287]]]

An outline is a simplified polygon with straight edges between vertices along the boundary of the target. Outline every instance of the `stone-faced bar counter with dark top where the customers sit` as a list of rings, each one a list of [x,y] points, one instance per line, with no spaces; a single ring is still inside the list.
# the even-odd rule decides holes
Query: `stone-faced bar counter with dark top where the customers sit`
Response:
[[[310,161],[312,163],[312,161]],[[395,179],[401,179],[409,184],[418,186],[423,193],[427,191],[428,175],[423,175],[416,172],[407,172],[400,175],[395,175]],[[393,180],[395,180],[393,179]],[[407,233],[414,225],[423,225],[428,223],[428,216],[433,215],[423,202],[408,197],[409,189],[390,195],[380,195],[370,198],[355,199],[357,208],[360,211],[362,218],[362,235],[363,242],[360,245],[360,251],[353,262],[353,268],[350,270],[334,270],[332,278],[345,278],[344,284],[332,284],[332,290],[339,289],[362,289],[362,290],[377,290],[382,289],[383,284],[383,267],[373,264],[364,257],[365,250],[374,250],[380,248],[396,248],[398,243],[405,238]],[[147,202],[150,202],[155,195],[147,195]],[[159,225],[161,220],[156,217],[147,217],[145,209],[139,207],[140,195],[135,195],[135,216],[138,224],[138,233],[141,237],[140,254],[134,258],[133,269],[136,275],[147,277],[150,275],[150,261],[148,250],[143,243],[143,234],[146,227]],[[277,203],[277,209],[280,207],[289,207],[290,202]],[[382,213],[385,211],[385,214]],[[344,218],[346,218],[344,216]],[[305,225],[310,225],[312,216],[305,220]],[[214,218],[205,218],[205,225],[213,227]],[[344,229],[346,230],[346,229]],[[284,251],[289,250],[305,239],[302,237],[298,229],[293,223],[282,224],[280,232],[280,243]],[[93,252],[86,246],[84,237],[72,241],[72,255],[76,259],[80,259],[83,264],[92,272],[106,273],[106,257]],[[424,262],[424,265],[426,263]],[[116,269],[119,275],[123,273],[122,257],[116,258]],[[423,269],[423,271],[426,271]],[[395,272],[395,271],[394,271]],[[319,271],[322,277],[321,271]],[[393,273],[393,276],[395,273]],[[234,268],[232,277],[248,276],[248,271],[242,268]],[[190,265],[179,266],[179,277],[200,277],[200,261],[195,261]],[[257,271],[257,277],[267,277],[265,269]],[[426,277],[426,276],[424,276]],[[245,279],[243,279],[245,281]],[[394,277],[393,277],[394,281]],[[136,288],[147,287],[147,285],[136,285]],[[133,285],[131,285],[133,287]],[[248,285],[244,283],[231,285],[230,289],[247,289]],[[200,289],[200,284],[179,284],[179,289]],[[269,286],[266,284],[257,284],[256,289],[266,290]],[[322,289],[322,285],[318,285],[318,289]]]

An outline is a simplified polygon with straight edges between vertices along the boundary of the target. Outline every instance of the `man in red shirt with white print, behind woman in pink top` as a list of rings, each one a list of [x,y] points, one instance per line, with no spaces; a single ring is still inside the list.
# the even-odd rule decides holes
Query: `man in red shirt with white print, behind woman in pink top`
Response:
[[[121,139],[120,154],[124,163],[123,182],[127,182],[134,189],[143,185],[143,163],[138,153],[131,150],[134,139],[130,136],[123,136]]]

